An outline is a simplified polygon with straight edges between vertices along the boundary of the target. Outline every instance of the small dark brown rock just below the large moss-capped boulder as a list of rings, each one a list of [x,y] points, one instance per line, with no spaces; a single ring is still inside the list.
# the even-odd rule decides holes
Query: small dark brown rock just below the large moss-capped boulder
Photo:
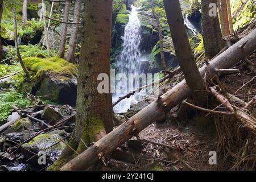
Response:
[[[63,116],[53,107],[44,107],[42,119],[46,120],[49,125],[55,125],[56,121],[62,117]]]

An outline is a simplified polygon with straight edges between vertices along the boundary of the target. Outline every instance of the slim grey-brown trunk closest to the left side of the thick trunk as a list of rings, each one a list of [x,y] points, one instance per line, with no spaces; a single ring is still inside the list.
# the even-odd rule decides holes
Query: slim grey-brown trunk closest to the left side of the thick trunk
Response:
[[[80,19],[80,9],[81,9],[81,0],[77,0],[75,3],[75,11],[74,11],[74,19],[73,23],[79,23]],[[76,51],[76,38],[77,38],[77,31],[79,29],[79,24],[73,24],[72,27],[72,33],[69,39],[69,45],[68,45],[68,55],[67,60],[72,63],[75,51]]]

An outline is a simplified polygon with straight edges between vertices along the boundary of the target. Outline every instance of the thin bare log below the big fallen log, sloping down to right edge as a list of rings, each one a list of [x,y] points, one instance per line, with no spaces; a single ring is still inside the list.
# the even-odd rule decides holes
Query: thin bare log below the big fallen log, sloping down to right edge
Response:
[[[218,93],[213,87],[210,88],[210,91],[213,93],[213,96],[216,97],[228,110],[234,113],[234,116],[247,127],[247,129],[253,131],[256,135],[256,119],[251,117],[249,114],[246,114],[240,108],[230,104],[227,98]]]

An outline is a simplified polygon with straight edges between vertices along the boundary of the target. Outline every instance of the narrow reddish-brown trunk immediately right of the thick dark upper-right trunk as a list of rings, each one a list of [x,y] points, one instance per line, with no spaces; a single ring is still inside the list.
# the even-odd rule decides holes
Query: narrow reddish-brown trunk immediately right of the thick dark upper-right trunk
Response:
[[[223,20],[222,25],[222,36],[228,36],[230,34],[229,31],[229,15],[228,15],[228,8],[227,8],[227,0],[220,0],[221,2],[221,10],[220,16],[222,16],[221,20]]]

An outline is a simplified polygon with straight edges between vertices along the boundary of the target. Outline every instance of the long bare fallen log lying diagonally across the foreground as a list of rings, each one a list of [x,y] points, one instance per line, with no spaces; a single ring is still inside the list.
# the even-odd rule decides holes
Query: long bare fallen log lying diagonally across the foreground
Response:
[[[214,58],[210,63],[200,68],[200,74],[204,77],[205,73],[212,78],[216,69],[227,69],[238,61],[250,55],[256,48],[256,29],[245,38],[229,47]],[[123,123],[111,133],[98,140],[87,150],[76,158],[65,164],[61,170],[84,170],[92,166],[99,159],[104,160],[105,156],[121,146],[126,140],[138,135],[144,128],[150,125],[155,119],[162,117],[170,109],[183,101],[191,94],[185,80],[181,81],[167,93],[160,96],[158,100],[139,111],[127,122]]]

